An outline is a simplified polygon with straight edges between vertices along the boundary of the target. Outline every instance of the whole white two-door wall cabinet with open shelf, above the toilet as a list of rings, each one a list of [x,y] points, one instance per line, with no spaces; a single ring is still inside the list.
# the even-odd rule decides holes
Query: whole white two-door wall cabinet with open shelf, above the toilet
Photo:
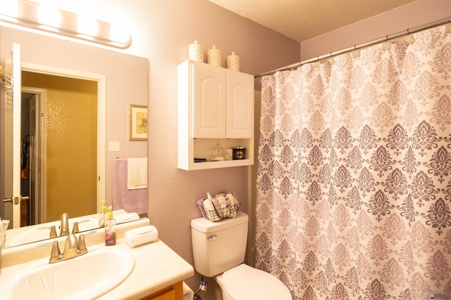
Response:
[[[211,162],[216,141],[245,147],[245,159]],[[194,157],[207,162],[194,162]],[[186,60],[178,66],[178,168],[254,164],[254,76]]]

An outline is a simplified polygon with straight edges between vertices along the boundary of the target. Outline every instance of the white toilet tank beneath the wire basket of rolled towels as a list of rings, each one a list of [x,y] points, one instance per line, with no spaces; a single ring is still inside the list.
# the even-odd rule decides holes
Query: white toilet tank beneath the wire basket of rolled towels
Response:
[[[247,223],[242,211],[231,219],[212,222],[205,218],[191,220],[194,268],[213,277],[245,261]]]

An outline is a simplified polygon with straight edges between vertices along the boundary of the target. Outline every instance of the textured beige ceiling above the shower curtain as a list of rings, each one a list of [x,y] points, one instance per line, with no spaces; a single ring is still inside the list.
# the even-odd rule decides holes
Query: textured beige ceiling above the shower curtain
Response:
[[[415,0],[209,1],[301,42]]]

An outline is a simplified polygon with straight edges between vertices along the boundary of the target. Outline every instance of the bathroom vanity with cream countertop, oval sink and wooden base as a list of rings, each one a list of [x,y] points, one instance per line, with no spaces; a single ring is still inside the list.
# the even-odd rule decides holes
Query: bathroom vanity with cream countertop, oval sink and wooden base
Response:
[[[125,243],[125,231],[148,225],[149,219],[119,224],[116,230],[118,236],[117,244],[111,247],[104,246],[104,229],[94,230],[96,233],[85,236],[87,254],[58,263],[48,263],[51,247],[49,245],[37,247],[42,242],[33,242],[3,249],[1,252],[0,273],[2,299],[20,299],[13,295],[26,296],[27,293],[35,296],[35,298],[39,298],[39,295],[44,295],[46,299],[51,299],[49,295],[54,293],[55,299],[61,296],[74,296],[81,299],[85,298],[83,293],[86,292],[89,293],[89,296],[92,296],[92,299],[101,300],[182,300],[183,280],[194,275],[192,266],[161,240],[142,244],[134,248],[130,248]],[[56,240],[58,240],[60,249],[63,251],[66,238],[56,237]],[[108,256],[111,256],[111,259],[104,260]],[[128,258],[125,256],[128,256]],[[99,260],[96,263],[92,263],[92,260],[96,259],[96,257]],[[121,257],[121,259],[118,259],[118,257]],[[123,261],[130,261],[130,258],[134,266],[131,266],[130,272],[118,280],[117,273],[121,273],[123,266],[115,268],[115,265],[127,263]],[[64,265],[64,263],[72,263],[72,265]],[[49,268],[51,271],[45,273],[39,269],[35,273],[25,272],[25,270],[35,268],[39,264],[42,264],[44,268]],[[68,267],[68,270],[64,269],[64,266],[75,265],[80,266],[80,268]],[[109,273],[110,267],[111,270],[116,271]],[[101,273],[101,268],[105,268],[107,271]],[[119,272],[117,272],[118,270]],[[92,277],[93,274],[97,273],[104,274],[99,275],[99,277],[103,278],[98,278],[97,280],[87,279],[89,276]],[[32,277],[30,274],[33,274],[35,280],[31,281],[33,278],[30,278],[27,282],[26,277]],[[115,276],[116,278],[114,278]],[[36,280],[38,277],[39,280]],[[85,280],[84,283],[83,280]],[[109,285],[109,282],[113,281],[116,283],[113,283],[109,288],[107,287],[109,290],[103,291],[101,294],[91,294],[91,291],[97,292],[97,287],[105,287],[105,285]],[[70,286],[66,286],[66,282]],[[17,289],[23,290],[17,293]],[[53,289],[54,291],[49,293],[47,289]]]

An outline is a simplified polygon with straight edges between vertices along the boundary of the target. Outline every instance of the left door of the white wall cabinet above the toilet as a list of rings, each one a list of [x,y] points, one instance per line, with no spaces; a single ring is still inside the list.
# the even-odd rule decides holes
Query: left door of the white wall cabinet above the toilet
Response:
[[[192,81],[192,137],[226,138],[226,73],[192,65]]]

